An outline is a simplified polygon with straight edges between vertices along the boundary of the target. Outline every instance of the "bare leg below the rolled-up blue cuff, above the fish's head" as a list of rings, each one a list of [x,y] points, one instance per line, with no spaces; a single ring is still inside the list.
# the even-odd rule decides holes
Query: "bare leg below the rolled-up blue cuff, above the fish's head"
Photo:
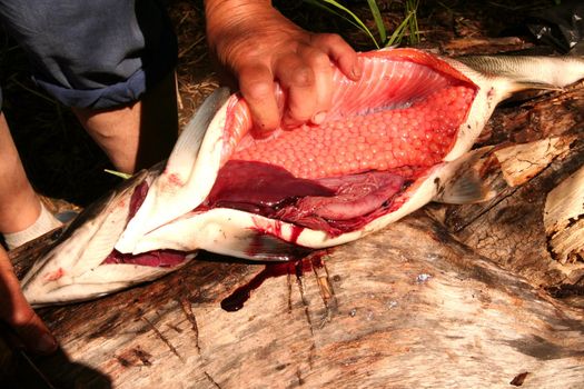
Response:
[[[178,137],[175,74],[131,106],[73,112],[116,169],[131,173],[150,168],[168,158]]]

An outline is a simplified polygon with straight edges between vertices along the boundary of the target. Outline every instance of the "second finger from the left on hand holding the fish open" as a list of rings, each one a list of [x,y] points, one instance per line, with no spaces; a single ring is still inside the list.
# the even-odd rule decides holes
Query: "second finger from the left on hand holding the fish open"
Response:
[[[294,128],[309,121],[315,113],[317,99],[313,69],[301,57],[290,53],[276,62],[274,73],[287,91],[283,127]]]

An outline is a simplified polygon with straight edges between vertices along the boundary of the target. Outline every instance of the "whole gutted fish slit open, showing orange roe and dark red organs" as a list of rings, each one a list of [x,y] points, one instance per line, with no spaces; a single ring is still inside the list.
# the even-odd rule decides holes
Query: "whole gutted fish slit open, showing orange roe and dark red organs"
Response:
[[[286,260],[358,239],[433,199],[484,200],[493,193],[464,171],[482,157],[468,150],[496,104],[584,78],[574,58],[359,57],[359,81],[335,73],[320,126],[263,137],[245,100],[217,90],[164,168],[101,201],[27,275],[29,301],[111,292],[172,271],[199,249]]]

